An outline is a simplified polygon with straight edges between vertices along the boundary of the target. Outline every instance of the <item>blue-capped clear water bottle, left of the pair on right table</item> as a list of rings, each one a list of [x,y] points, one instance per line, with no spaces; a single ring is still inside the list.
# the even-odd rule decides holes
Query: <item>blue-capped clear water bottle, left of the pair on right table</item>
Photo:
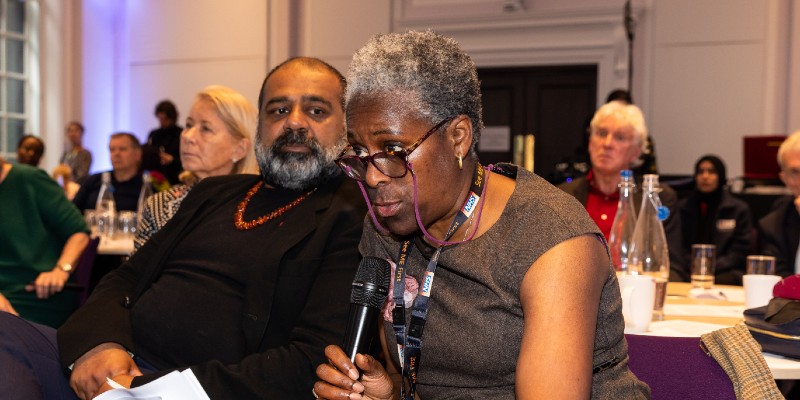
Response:
[[[617,214],[611,224],[611,234],[608,245],[611,248],[611,263],[619,272],[628,272],[628,253],[631,248],[633,231],[636,228],[636,211],[633,208],[633,191],[636,183],[633,181],[633,171],[622,170],[619,182],[619,202]]]

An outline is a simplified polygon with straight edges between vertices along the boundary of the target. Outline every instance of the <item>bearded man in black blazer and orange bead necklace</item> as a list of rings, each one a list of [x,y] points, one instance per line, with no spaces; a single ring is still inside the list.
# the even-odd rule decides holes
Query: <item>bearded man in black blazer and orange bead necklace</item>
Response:
[[[139,386],[185,368],[212,399],[309,397],[324,346],[344,336],[365,215],[333,162],[345,143],[344,86],[317,59],[272,70],[259,97],[261,175],[199,182],[59,329],[60,358],[13,353],[36,363],[22,372],[53,371],[43,382],[69,392],[62,368],[74,362],[69,379],[82,399],[109,389],[108,377]],[[5,313],[0,327],[36,331]],[[19,343],[0,353],[9,347]]]

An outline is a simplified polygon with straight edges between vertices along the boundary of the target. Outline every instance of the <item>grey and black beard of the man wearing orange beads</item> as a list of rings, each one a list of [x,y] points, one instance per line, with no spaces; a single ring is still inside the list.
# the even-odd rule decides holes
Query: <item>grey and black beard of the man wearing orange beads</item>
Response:
[[[260,129],[258,137],[262,137]],[[286,146],[297,144],[306,146],[309,152],[284,150]],[[268,185],[303,191],[339,175],[341,170],[334,160],[343,145],[344,138],[336,145],[325,148],[316,138],[309,137],[305,129],[286,130],[269,146],[259,140],[255,146],[256,160],[261,177]]]

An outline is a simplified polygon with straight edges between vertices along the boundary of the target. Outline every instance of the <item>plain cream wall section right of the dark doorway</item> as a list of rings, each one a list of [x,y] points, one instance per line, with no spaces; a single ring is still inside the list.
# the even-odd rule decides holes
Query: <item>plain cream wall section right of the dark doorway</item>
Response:
[[[716,153],[741,175],[743,136],[787,133],[788,3],[654,2],[648,117],[661,171],[690,173]]]

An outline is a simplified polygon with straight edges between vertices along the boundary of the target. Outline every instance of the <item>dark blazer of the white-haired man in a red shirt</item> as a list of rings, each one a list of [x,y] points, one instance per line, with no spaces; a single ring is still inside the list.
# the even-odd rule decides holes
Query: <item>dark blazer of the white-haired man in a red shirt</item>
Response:
[[[636,191],[633,193],[633,206],[636,215],[642,208],[642,182],[636,182]],[[589,197],[589,181],[586,177],[581,177],[572,182],[562,183],[558,188],[571,194],[573,197],[586,207],[586,199]],[[678,208],[678,195],[671,187],[661,184],[661,193],[658,198],[661,204],[669,209],[669,218],[664,221],[664,234],[667,238],[669,250],[669,280],[673,282],[686,282],[689,280],[689,269],[681,256],[681,217]]]

